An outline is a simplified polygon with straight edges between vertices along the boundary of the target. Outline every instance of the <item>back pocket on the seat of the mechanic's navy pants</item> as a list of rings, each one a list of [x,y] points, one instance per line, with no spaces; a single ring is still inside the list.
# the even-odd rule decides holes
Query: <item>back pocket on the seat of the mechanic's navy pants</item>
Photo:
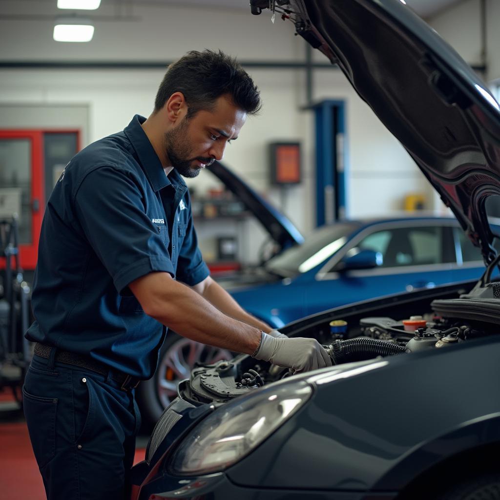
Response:
[[[35,396],[22,387],[22,405],[34,456],[42,468],[55,456],[57,398]]]

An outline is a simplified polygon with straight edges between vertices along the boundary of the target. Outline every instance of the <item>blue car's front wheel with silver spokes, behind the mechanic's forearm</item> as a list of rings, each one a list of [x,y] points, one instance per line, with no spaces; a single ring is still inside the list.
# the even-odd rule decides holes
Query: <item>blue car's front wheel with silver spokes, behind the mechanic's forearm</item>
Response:
[[[189,378],[195,362],[212,363],[230,359],[233,354],[201,344],[168,331],[158,356],[158,367],[149,380],[139,383],[135,398],[142,418],[142,431],[150,431],[163,410],[177,394],[178,383]]]

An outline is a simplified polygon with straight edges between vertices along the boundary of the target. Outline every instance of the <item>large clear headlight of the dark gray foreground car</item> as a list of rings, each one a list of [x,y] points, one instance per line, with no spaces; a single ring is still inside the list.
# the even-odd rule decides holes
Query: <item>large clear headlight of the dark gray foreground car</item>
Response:
[[[181,474],[225,469],[282,425],[311,393],[310,385],[296,381],[226,403],[187,434],[173,455],[171,469]]]

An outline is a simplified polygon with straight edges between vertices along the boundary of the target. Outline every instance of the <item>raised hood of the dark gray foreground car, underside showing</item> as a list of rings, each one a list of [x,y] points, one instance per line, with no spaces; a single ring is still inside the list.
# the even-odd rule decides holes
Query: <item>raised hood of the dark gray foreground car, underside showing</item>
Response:
[[[400,0],[275,3],[338,64],[491,262],[485,201],[500,194],[500,109],[486,85]],[[269,2],[250,5],[258,13]]]

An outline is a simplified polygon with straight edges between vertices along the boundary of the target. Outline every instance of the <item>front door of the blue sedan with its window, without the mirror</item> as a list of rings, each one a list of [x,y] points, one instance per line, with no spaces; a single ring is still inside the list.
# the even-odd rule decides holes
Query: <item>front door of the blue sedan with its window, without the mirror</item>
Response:
[[[366,233],[368,232],[368,233]],[[456,256],[452,227],[407,222],[406,227],[363,231],[314,275],[303,282],[307,313],[369,298],[429,288],[456,280]],[[340,270],[349,255],[370,249],[379,252],[381,265],[370,269]],[[330,267],[328,268],[328,265]]]

